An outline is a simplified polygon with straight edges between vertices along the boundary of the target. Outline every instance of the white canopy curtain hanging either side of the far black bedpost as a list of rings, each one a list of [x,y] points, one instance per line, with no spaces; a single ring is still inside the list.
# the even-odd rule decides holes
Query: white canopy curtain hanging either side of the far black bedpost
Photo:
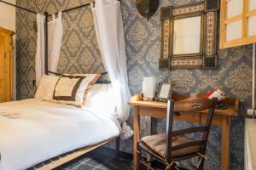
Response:
[[[48,22],[48,64],[49,71],[56,72],[61,53],[62,40],[62,19],[61,12],[58,13],[58,18],[52,14],[52,20]],[[37,86],[44,71],[44,14],[37,14],[38,23],[38,39],[37,39],[37,53],[36,53],[36,83]]]

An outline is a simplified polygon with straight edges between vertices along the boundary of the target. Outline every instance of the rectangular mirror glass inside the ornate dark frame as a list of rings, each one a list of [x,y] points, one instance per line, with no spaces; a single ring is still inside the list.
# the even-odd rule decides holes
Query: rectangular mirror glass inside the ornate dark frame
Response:
[[[201,52],[201,16],[174,20],[173,55]]]

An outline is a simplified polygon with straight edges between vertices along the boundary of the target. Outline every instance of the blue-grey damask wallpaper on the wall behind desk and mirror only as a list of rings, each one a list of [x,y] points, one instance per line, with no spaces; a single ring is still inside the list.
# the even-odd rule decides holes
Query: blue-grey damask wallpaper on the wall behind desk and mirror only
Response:
[[[129,2],[129,3],[128,3]],[[183,5],[195,3],[191,0],[162,0],[160,6]],[[159,71],[160,57],[160,9],[150,20],[137,14],[136,3],[122,3],[126,52],[128,56],[129,84],[132,94],[142,91],[144,76],[160,77],[166,82],[175,82],[174,90],[180,94],[200,93],[220,88],[230,97],[241,100],[241,114],[249,108],[252,95],[252,47],[230,48],[218,50],[218,69],[216,70],[172,70]],[[157,57],[156,57],[157,56]],[[143,129],[145,124],[142,121]],[[190,123],[176,122],[177,128],[192,126]],[[154,121],[154,132],[164,132],[165,122]],[[242,170],[243,167],[243,136],[244,120],[234,118],[230,132],[230,169]],[[143,132],[145,133],[145,132]],[[221,129],[212,127],[207,145],[205,169],[220,169]],[[125,146],[126,148],[127,146]]]

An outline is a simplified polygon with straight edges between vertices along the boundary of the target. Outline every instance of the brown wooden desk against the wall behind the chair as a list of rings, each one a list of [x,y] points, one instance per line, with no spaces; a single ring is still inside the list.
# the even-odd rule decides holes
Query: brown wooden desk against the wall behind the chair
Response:
[[[204,94],[199,94],[201,97]],[[176,94],[173,95],[174,100],[187,99],[189,96]],[[230,167],[230,117],[238,116],[238,99],[224,99],[224,103],[229,104],[230,107],[226,110],[216,109],[212,118],[212,125],[222,128],[221,137],[221,169],[228,170]],[[166,118],[166,103],[155,101],[143,101],[140,95],[135,95],[131,98],[129,105],[134,106],[133,114],[133,161],[134,169],[137,170],[137,141],[140,139],[140,116],[147,117],[147,135],[151,134],[151,117],[165,119]],[[205,123],[207,111],[201,113],[184,113],[180,116],[174,116],[177,121]]]

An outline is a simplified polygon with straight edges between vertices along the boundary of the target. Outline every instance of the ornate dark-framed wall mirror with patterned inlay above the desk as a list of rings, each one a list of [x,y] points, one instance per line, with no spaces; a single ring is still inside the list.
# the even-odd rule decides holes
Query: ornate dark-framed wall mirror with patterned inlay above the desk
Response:
[[[217,67],[218,0],[161,8],[160,69]]]

